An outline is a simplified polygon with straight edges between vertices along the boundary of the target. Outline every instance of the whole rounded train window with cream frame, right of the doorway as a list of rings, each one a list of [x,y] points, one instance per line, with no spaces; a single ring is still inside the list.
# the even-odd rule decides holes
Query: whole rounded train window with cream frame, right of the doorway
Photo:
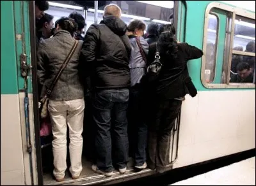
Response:
[[[205,87],[255,88],[255,13],[211,3],[205,12]]]

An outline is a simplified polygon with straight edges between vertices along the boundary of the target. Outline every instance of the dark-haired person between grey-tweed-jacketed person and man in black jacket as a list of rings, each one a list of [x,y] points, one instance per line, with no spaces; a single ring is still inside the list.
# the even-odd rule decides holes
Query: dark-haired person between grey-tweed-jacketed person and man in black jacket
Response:
[[[77,31],[74,34],[75,39],[84,40],[82,33],[83,33],[84,27],[86,26],[86,23],[85,23],[85,19],[84,19],[83,15],[74,11],[74,12],[70,13],[70,15],[68,17],[74,19],[77,24]]]

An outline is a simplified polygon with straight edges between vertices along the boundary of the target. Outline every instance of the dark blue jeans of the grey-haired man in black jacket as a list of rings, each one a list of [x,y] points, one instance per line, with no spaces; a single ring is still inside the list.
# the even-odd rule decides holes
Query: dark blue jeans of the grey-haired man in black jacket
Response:
[[[95,92],[93,120],[97,127],[97,167],[104,172],[113,171],[111,156],[111,128],[115,161],[118,168],[125,168],[128,161],[127,107],[128,89],[109,89]],[[111,118],[113,117],[113,118]],[[111,124],[112,121],[112,124]]]

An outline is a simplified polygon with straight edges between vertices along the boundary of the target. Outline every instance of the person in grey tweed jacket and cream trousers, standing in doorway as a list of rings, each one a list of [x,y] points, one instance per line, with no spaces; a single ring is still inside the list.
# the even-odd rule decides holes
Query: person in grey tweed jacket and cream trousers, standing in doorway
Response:
[[[54,77],[60,70],[68,53],[74,46],[73,38],[77,29],[74,20],[61,17],[55,23],[54,36],[44,39],[38,47],[37,75],[42,85],[41,97],[51,86]],[[78,69],[79,54],[83,41],[78,41],[77,48],[70,58],[67,67],[56,82],[49,97],[48,111],[52,124],[52,151],[54,157],[54,171],[58,182],[65,177],[67,169],[67,125],[69,128],[70,173],[73,179],[79,178],[82,167],[83,149],[83,118],[84,118],[84,92],[79,82]]]

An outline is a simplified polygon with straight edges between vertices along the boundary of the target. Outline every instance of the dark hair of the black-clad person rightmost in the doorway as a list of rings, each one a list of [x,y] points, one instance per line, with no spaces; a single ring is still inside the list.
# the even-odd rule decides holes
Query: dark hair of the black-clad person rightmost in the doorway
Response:
[[[177,57],[177,41],[175,39],[175,27],[172,24],[159,26],[159,38],[157,45],[160,55],[166,55],[170,59]]]

